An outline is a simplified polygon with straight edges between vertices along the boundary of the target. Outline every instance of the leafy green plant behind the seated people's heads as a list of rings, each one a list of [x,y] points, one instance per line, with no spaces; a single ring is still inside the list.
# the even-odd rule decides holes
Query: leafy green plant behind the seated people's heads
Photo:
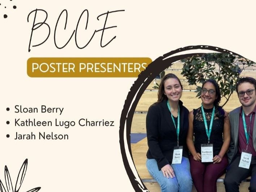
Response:
[[[200,98],[201,84],[207,79],[214,79],[221,89],[221,96],[229,101],[239,80],[239,75],[249,66],[255,66],[253,61],[232,54],[208,53],[194,55],[182,60],[184,63],[182,75],[189,85],[196,85],[197,95]]]

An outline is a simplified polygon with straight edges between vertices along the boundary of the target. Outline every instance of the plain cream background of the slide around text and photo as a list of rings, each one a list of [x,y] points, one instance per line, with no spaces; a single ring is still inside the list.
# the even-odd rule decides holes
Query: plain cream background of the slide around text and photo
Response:
[[[236,52],[256,61],[255,4],[252,1],[1,1],[1,70],[0,70],[0,179],[4,182],[7,165],[13,185],[23,161],[28,168],[20,191],[42,187],[52,191],[134,191],[125,171],[119,145],[120,114],[126,96],[136,78],[30,78],[26,74],[29,57],[150,57],[156,59],[171,50],[190,45],[210,45]],[[8,9],[4,9],[3,6]],[[13,5],[17,9],[12,9]],[[8,7],[9,6],[9,7]],[[48,13],[51,27],[49,39],[28,52],[30,30],[27,15],[34,9]],[[108,10],[125,9],[110,14],[107,24],[117,25],[106,30],[100,47],[101,33],[80,50],[74,37],[59,50],[54,46],[54,28],[63,9],[68,10],[67,36],[75,29],[84,9],[89,10],[85,42],[94,29],[101,29]],[[4,19],[3,14],[8,14]],[[39,34],[39,33],[38,33]],[[40,35],[40,34],[39,34]],[[61,38],[62,35],[58,36]],[[82,36],[82,35],[81,35]],[[104,40],[104,39],[103,39]],[[60,40],[61,42],[61,40]],[[35,42],[34,42],[35,44]],[[82,40],[81,40],[82,44]],[[200,50],[199,50],[200,51]],[[15,114],[14,106],[64,107],[57,114]],[[7,112],[6,107],[11,111]],[[115,127],[80,127],[68,129],[49,127],[14,127],[14,118],[55,118],[75,120],[114,120]],[[10,124],[5,122],[10,120]],[[15,141],[14,133],[34,131],[69,133],[68,141]],[[6,134],[10,138],[6,138]]]

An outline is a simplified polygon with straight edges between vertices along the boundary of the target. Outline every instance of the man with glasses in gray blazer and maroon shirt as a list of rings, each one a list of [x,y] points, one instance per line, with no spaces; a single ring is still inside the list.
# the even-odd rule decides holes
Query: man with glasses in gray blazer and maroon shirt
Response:
[[[251,176],[250,192],[256,192],[256,80],[241,78],[236,92],[241,107],[229,113],[231,141],[227,152],[229,166],[224,184],[226,192],[239,192],[240,183]]]

